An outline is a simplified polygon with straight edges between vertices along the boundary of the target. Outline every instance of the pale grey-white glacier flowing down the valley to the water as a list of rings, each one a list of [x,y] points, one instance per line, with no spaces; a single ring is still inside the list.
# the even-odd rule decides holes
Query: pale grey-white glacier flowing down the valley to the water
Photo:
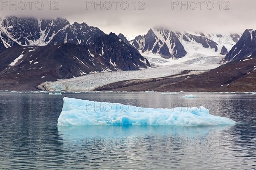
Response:
[[[115,71],[86,74],[71,79],[60,79],[56,82],[44,82],[38,86],[46,91],[93,91],[94,89],[114,82],[131,79],[148,79],[167,77],[179,74],[184,70],[192,70],[189,74],[201,74],[220,66],[224,57],[219,56],[186,56],[180,59],[164,59],[160,56],[145,56],[151,65],[156,67],[146,68],[139,71]],[[178,75],[180,76],[180,75]]]

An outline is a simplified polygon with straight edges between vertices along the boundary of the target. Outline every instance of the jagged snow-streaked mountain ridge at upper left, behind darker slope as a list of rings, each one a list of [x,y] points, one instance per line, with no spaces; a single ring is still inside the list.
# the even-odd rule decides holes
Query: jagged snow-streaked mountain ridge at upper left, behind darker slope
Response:
[[[89,44],[104,32],[86,23],[70,24],[65,18],[36,19],[27,17],[0,18],[0,39],[6,48],[13,45],[48,43]]]

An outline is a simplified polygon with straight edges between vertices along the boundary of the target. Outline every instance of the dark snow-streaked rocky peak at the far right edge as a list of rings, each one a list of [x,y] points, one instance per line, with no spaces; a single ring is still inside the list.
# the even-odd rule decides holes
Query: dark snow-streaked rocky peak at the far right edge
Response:
[[[249,57],[256,51],[256,30],[246,29],[240,40],[231,48],[224,62]]]

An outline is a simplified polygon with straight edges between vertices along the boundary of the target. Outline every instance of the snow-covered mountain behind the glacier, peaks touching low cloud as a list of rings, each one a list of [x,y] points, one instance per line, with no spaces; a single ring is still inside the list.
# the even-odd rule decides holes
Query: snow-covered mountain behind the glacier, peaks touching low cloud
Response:
[[[135,37],[130,43],[145,56],[160,55],[167,59],[177,59],[186,55],[223,55],[225,48],[230,50],[239,38],[240,34],[190,34],[166,28],[151,28],[147,34]]]

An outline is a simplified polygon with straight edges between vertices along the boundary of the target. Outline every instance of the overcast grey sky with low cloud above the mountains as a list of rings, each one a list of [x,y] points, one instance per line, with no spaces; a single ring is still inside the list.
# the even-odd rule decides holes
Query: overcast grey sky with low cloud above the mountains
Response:
[[[0,0],[0,17],[64,17],[133,39],[150,28],[242,34],[256,29],[256,0]]]

